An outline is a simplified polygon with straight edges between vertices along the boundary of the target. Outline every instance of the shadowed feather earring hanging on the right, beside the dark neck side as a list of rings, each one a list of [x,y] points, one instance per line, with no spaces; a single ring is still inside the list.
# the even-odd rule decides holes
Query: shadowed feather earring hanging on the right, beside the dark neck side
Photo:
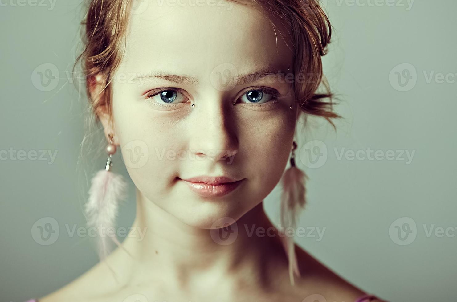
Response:
[[[290,168],[282,176],[282,196],[281,196],[281,225],[285,228],[292,228],[295,232],[297,218],[300,210],[305,205],[305,181],[306,174],[295,165],[295,149],[297,143],[292,145],[292,155],[290,158]],[[284,249],[286,250],[289,262],[289,279],[292,285],[295,284],[294,275],[300,276],[298,270],[297,256],[295,254],[295,242],[293,237],[284,236]]]

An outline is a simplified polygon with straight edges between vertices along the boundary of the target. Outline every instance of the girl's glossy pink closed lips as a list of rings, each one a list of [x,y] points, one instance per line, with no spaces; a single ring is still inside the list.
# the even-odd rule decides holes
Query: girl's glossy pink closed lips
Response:
[[[181,180],[202,197],[220,197],[234,191],[244,179],[234,180],[226,176],[197,176]]]

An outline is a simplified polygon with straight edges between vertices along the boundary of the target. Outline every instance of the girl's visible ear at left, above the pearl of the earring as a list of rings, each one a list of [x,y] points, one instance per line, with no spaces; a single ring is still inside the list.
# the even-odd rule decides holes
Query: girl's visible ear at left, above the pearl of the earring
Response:
[[[103,126],[106,141],[110,141],[109,134],[111,134],[114,136],[113,143],[117,145],[117,135],[110,107],[111,100],[109,99],[105,76],[102,74],[89,76],[87,85],[89,87],[94,112]]]

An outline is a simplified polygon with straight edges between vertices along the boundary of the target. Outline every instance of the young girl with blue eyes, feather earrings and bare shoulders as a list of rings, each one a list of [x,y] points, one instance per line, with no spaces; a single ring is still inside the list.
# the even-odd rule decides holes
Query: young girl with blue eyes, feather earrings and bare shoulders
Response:
[[[283,172],[297,121],[339,117],[317,92],[330,34],[317,0],[91,0],[90,106],[107,153],[122,148],[137,214],[120,248],[32,301],[381,301],[288,245],[262,207],[283,177],[294,226],[305,176]],[[111,166],[107,225],[123,188]]]

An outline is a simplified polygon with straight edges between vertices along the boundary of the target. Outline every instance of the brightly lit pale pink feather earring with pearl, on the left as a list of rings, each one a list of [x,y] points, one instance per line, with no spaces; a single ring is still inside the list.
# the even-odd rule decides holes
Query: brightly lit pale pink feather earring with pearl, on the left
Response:
[[[108,134],[110,143],[106,147],[108,161],[104,170],[100,170],[91,180],[89,198],[85,204],[85,216],[87,227],[97,230],[97,251],[100,260],[105,260],[108,253],[112,250],[112,242],[122,247],[116,237],[116,232],[112,232],[116,225],[119,200],[126,197],[127,183],[122,175],[117,175],[110,171],[112,167],[112,156],[116,153],[116,145],[113,143],[113,135]],[[109,241],[107,236],[112,240]],[[124,249],[125,250],[125,249]]]

